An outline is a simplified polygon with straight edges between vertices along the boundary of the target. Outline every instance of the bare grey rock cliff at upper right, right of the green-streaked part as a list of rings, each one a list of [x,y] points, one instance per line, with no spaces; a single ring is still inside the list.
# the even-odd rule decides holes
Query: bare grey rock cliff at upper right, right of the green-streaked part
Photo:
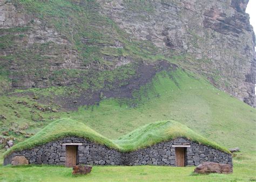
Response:
[[[254,33],[245,13],[248,0],[100,1],[102,13],[161,52],[187,55],[182,65],[252,105]]]

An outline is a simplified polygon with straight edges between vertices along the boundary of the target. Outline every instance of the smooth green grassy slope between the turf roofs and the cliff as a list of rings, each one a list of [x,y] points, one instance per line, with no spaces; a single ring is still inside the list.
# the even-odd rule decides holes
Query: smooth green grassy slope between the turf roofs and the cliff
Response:
[[[103,99],[77,111],[64,112],[55,104],[45,106],[29,96],[2,96],[0,101],[6,117],[1,132],[9,135],[3,137],[17,138],[16,143],[63,117],[85,123],[111,139],[148,123],[175,120],[210,141],[239,146],[242,151],[255,150],[255,109],[182,69],[158,73],[133,93],[133,99]]]

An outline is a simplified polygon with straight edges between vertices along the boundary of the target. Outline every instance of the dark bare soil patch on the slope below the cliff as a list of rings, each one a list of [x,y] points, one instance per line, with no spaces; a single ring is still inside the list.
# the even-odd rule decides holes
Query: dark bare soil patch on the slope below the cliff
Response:
[[[138,90],[141,86],[150,82],[156,73],[160,71],[172,71],[177,65],[170,64],[167,61],[157,61],[153,64],[140,64],[137,67],[136,75],[125,80],[127,85],[119,86],[119,82],[115,82],[113,89],[101,90],[83,90],[78,95],[69,95],[68,97],[57,97],[55,102],[62,106],[64,110],[77,110],[78,107],[84,105],[93,105],[99,103],[100,100],[106,98],[131,99],[134,90]]]

